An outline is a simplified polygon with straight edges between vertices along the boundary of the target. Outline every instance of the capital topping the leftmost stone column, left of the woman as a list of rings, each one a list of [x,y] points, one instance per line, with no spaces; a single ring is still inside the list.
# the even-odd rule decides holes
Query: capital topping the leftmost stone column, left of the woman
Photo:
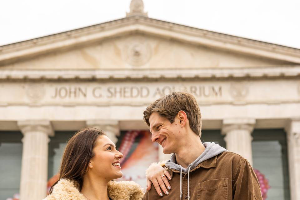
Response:
[[[54,136],[54,130],[52,124],[47,120],[24,120],[17,122],[23,135],[28,132],[41,131],[47,133],[48,136]]]

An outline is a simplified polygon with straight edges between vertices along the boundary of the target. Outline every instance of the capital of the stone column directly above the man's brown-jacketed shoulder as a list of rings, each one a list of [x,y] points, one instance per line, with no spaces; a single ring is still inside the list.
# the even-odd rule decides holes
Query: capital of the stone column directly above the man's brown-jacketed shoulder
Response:
[[[253,118],[228,118],[223,119],[222,122],[222,134],[233,130],[247,130],[252,133],[256,120]]]

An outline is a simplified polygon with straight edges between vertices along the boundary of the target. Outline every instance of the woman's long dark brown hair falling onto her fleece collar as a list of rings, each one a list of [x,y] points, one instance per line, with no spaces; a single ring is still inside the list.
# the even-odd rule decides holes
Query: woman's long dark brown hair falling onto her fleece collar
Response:
[[[99,136],[106,135],[97,128],[85,128],[78,131],[67,143],[63,153],[62,163],[59,171],[59,179],[66,178],[78,183],[78,189],[81,191],[83,185],[83,176],[88,170],[88,163],[93,158],[93,148]],[[53,186],[49,194],[52,193]]]

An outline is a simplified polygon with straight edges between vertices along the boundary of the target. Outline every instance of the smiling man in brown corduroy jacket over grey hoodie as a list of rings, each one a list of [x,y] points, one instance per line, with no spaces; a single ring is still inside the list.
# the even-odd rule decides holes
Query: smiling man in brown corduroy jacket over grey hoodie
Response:
[[[152,142],[173,155],[165,163],[166,172],[158,175],[167,187],[166,176],[171,176],[172,188],[167,190],[159,178],[149,177],[153,186],[150,189],[148,182],[150,190],[143,200],[262,200],[257,177],[245,158],[215,143],[202,144],[201,113],[192,94],[174,92],[159,98],[144,111],[144,121]]]

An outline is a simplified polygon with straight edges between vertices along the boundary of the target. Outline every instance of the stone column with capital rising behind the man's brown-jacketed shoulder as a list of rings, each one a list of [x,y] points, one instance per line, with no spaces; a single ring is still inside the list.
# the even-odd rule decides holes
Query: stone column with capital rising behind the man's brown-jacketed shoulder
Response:
[[[222,134],[228,151],[237,153],[246,158],[252,165],[252,136],[255,119],[224,119]]]

